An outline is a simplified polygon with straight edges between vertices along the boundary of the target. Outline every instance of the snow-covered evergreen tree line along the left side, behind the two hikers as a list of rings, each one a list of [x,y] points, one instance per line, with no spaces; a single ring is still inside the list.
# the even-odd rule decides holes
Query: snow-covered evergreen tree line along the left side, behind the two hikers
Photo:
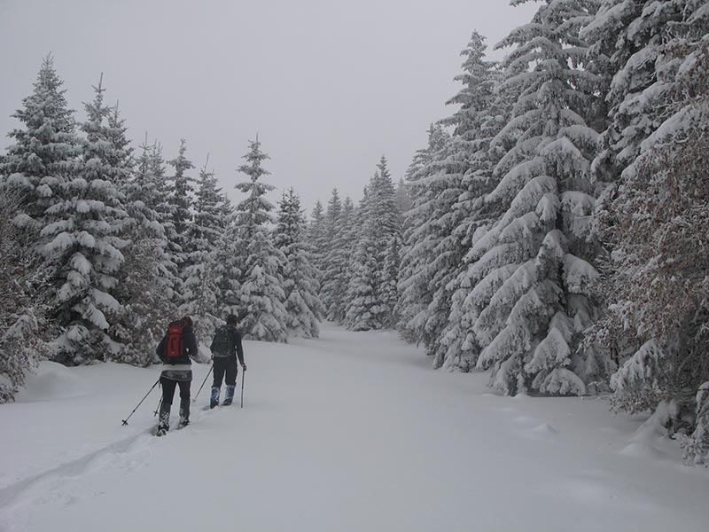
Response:
[[[300,199],[284,192],[274,215],[258,137],[234,207],[208,157],[194,176],[184,140],[173,160],[147,137],[134,153],[102,81],[77,123],[48,57],[13,114],[20,126],[0,160],[0,403],[40,356],[152,364],[178,316],[203,342],[229,314],[245,338],[318,335]]]

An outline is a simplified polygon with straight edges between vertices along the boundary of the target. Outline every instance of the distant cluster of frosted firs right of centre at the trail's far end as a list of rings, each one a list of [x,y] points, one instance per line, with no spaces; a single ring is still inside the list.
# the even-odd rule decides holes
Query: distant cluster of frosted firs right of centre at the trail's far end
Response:
[[[352,331],[396,326],[402,214],[409,196],[394,187],[382,156],[357,207],[334,189],[320,201],[308,226],[324,316]]]

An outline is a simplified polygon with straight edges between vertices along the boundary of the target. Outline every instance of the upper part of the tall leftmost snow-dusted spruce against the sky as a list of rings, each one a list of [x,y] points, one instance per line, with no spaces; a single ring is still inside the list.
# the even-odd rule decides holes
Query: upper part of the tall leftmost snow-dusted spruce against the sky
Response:
[[[74,133],[74,111],[66,105],[62,82],[47,56],[42,63],[34,90],[22,100],[22,108],[12,115],[22,124],[8,137],[14,144],[0,164],[4,191],[20,192],[14,223],[34,238],[44,226],[44,212],[57,201],[59,185],[74,173],[79,140]]]

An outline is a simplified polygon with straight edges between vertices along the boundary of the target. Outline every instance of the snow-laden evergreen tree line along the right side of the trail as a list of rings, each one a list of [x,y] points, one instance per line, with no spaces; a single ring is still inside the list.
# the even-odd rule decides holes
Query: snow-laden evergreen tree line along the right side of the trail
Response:
[[[709,462],[707,29],[705,0],[557,0],[500,62],[473,33],[403,220],[383,164],[316,208],[327,317],[505,395],[612,392]]]

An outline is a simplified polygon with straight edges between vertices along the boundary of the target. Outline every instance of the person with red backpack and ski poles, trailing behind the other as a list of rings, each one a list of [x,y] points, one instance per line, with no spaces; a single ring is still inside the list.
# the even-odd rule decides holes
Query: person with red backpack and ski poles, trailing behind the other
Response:
[[[180,387],[180,425],[190,424],[190,385],[192,381],[191,358],[197,358],[197,339],[194,336],[191,317],[170,322],[168,332],[155,348],[156,355],[163,363],[160,373],[162,402],[156,435],[168,433],[170,428],[170,408],[175,396],[175,387]]]

